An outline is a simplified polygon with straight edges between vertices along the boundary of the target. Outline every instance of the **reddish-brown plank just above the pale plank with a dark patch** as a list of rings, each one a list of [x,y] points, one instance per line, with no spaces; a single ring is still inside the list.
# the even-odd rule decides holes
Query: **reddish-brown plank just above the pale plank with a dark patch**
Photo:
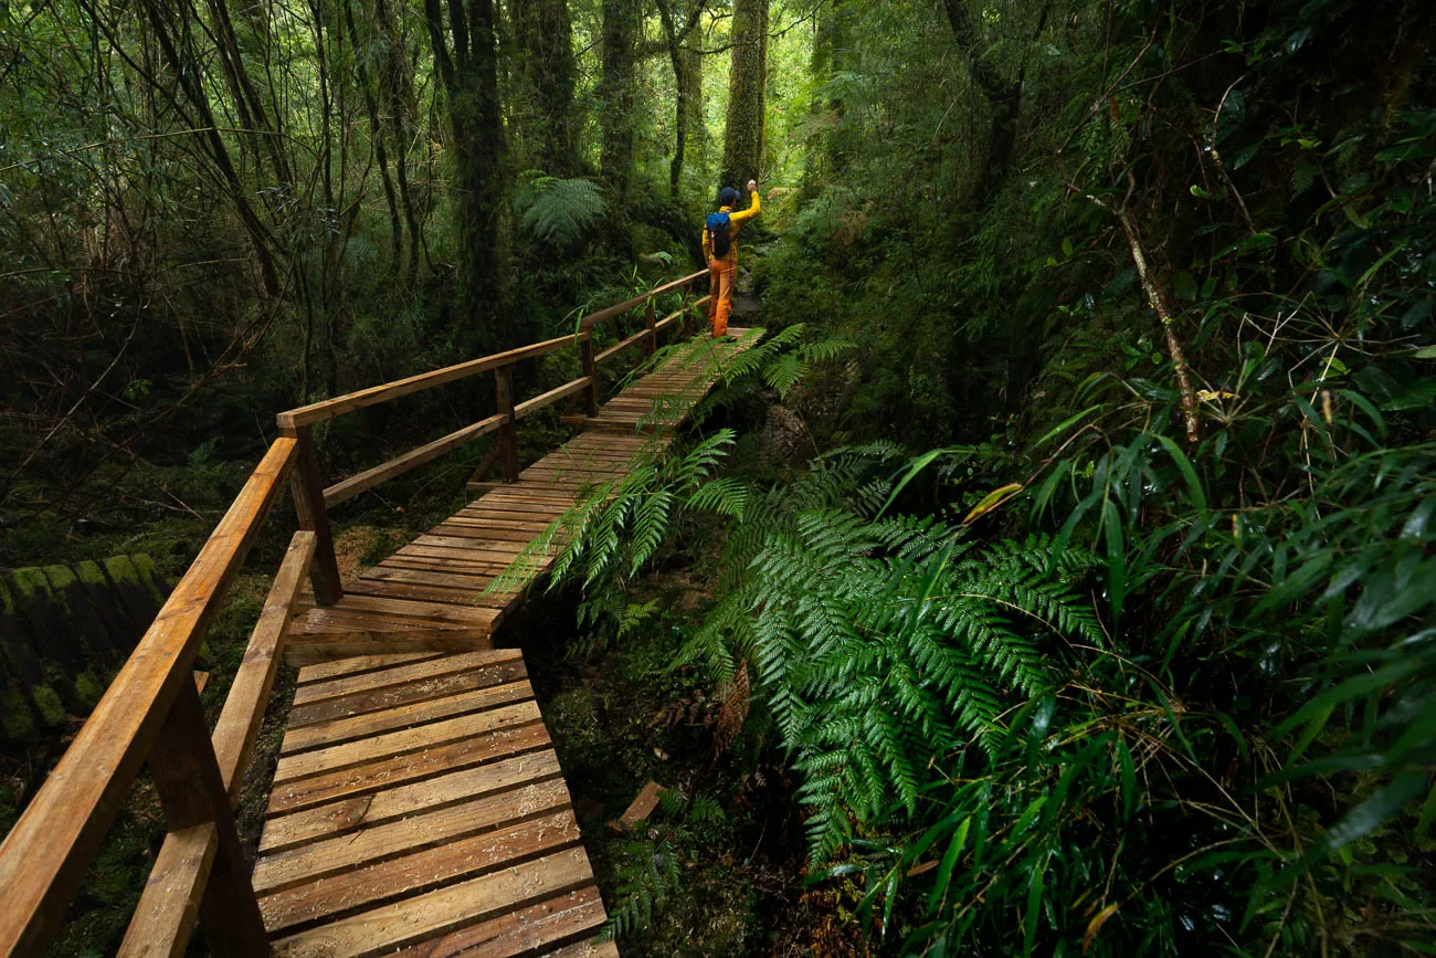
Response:
[[[370,794],[549,744],[549,730],[543,722],[501,728],[487,735],[435,745],[412,755],[393,755],[313,778],[280,783],[270,793],[266,813],[286,814],[349,796]]]

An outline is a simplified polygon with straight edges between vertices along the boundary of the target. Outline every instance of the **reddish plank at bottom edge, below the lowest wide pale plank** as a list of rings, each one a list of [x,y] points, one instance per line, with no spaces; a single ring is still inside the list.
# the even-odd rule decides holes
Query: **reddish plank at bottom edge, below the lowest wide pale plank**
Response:
[[[561,945],[574,938],[592,935],[606,918],[599,889],[589,886],[460,928],[438,941],[414,945],[399,954],[405,958],[528,955],[538,948]]]

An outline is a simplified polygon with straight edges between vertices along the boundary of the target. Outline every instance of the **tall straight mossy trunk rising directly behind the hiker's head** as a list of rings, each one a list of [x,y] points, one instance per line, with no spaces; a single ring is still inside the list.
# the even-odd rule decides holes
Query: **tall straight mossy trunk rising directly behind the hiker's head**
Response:
[[[763,167],[763,119],[768,85],[768,0],[734,0],[732,70],[722,169],[727,187],[757,180]]]

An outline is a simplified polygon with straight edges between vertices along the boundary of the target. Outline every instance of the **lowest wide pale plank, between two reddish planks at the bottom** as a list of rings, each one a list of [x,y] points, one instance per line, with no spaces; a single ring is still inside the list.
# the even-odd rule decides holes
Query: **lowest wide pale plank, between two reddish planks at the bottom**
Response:
[[[593,869],[582,847],[418,895],[402,909],[373,908],[274,942],[293,958],[360,958],[412,945],[490,918],[537,896],[587,888]]]

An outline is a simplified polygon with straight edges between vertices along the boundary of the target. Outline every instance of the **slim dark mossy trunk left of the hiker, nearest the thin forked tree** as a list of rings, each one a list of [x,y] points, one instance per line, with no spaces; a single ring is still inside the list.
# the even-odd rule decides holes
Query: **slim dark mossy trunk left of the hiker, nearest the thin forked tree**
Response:
[[[603,182],[609,188],[609,207],[622,215],[628,205],[633,175],[633,99],[636,90],[638,32],[642,4],[633,0],[603,3],[603,75],[599,78],[599,149]],[[625,228],[615,231],[617,241]]]

